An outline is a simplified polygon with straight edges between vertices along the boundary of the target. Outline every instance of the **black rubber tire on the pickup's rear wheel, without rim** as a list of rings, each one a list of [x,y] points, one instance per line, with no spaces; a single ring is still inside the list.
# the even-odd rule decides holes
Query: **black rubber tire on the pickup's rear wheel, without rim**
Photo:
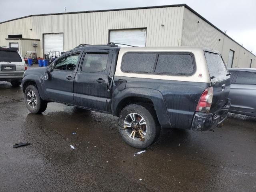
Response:
[[[144,138],[139,139],[140,135],[138,134],[138,131],[136,131],[136,135],[138,136],[138,138],[137,140],[134,140],[129,136],[129,134],[132,130],[135,130],[135,129],[132,129],[130,127],[124,128],[124,120],[127,117],[126,121],[128,121],[128,118],[129,118],[128,116],[129,114],[132,114],[132,113],[136,113],[136,117],[134,119],[137,123],[141,119],[140,117],[144,118],[146,122],[146,134]],[[140,119],[136,120],[136,118],[140,118]],[[132,120],[132,118],[130,118],[130,120]],[[154,142],[156,142],[161,132],[161,128],[158,123],[155,111],[148,106],[141,106],[138,104],[130,104],[122,109],[118,119],[118,127],[119,127],[119,132],[122,138],[124,139],[124,141],[130,146],[134,148],[139,148],[139,149],[144,149],[150,146],[151,144],[153,144]]]

